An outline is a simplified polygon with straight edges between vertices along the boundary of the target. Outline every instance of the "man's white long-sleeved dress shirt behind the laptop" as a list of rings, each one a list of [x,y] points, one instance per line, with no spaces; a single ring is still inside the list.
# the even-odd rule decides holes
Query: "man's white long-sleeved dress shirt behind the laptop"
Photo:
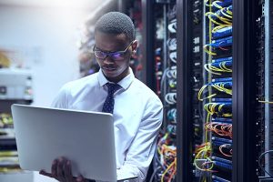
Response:
[[[101,70],[69,82],[61,88],[53,106],[102,111],[107,82]],[[163,106],[158,96],[136,79],[131,69],[117,84],[122,88],[114,94],[116,173],[118,177],[137,176],[137,181],[144,181],[154,157]]]

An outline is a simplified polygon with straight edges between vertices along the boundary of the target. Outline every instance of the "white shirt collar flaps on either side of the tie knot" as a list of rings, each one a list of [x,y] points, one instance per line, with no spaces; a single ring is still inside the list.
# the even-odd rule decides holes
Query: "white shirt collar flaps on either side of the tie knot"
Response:
[[[124,89],[127,89],[135,78],[135,75],[131,67],[129,67],[129,72],[130,72],[129,75],[127,75],[125,78],[123,78],[117,83],[119,86],[122,86]],[[99,86],[104,86],[106,85],[106,83],[109,82],[101,69],[99,69],[98,71],[97,79],[98,79]]]

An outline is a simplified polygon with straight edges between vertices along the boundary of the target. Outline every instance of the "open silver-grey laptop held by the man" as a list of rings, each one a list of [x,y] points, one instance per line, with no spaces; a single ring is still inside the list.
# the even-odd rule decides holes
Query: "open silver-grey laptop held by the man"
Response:
[[[51,172],[53,160],[66,157],[74,177],[111,182],[136,178],[116,177],[112,114],[15,104],[12,116],[22,169]]]

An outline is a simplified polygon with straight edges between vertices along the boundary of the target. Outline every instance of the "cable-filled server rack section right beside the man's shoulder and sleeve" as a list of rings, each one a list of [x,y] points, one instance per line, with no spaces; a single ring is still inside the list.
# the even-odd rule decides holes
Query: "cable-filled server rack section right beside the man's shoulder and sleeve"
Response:
[[[176,1],[142,1],[144,81],[162,100],[164,121],[149,181],[176,181]]]

